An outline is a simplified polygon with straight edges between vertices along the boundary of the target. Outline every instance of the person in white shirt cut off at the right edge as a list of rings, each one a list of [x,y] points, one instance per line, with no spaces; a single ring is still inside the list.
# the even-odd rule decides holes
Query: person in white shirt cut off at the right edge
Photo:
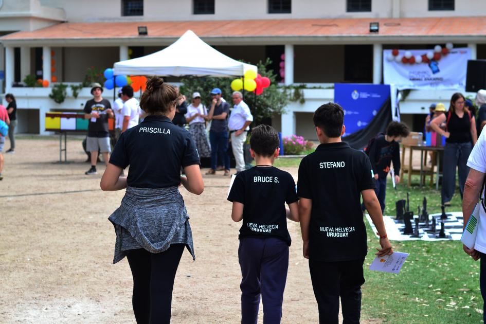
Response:
[[[464,252],[470,255],[474,260],[481,259],[479,287],[483,299],[483,321],[486,322],[486,308],[484,308],[484,300],[486,299],[486,206],[484,205],[486,132],[481,132],[476,145],[467,159],[467,166],[470,168],[470,171],[469,175],[467,175],[462,197],[463,230],[478,203],[479,197],[481,198],[481,206],[479,208],[479,227],[474,248],[469,249],[465,245],[463,245],[462,248]]]

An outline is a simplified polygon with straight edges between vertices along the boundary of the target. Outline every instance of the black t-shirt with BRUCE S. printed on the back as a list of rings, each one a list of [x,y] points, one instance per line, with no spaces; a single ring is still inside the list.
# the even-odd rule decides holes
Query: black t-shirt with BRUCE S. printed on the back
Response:
[[[239,239],[276,237],[290,246],[285,203],[295,203],[298,198],[289,172],[259,166],[240,172],[228,200],[244,205]]]

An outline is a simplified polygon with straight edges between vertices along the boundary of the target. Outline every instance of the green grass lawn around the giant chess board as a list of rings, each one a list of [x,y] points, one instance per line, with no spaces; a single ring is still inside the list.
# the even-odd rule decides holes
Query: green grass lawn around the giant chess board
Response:
[[[275,160],[276,167],[298,167],[300,158]],[[412,176],[412,187],[403,183],[394,190],[388,177],[385,214],[395,215],[395,201],[410,194],[410,210],[422,208],[427,197],[429,214],[441,212],[440,191],[419,187]],[[461,211],[457,189],[452,206],[446,211]],[[479,291],[479,261],[462,250],[459,241],[392,241],[394,250],[409,253],[400,274],[369,271],[379,241],[368,221],[369,253],[365,260],[362,318],[386,323],[479,323],[482,322],[482,298]]]

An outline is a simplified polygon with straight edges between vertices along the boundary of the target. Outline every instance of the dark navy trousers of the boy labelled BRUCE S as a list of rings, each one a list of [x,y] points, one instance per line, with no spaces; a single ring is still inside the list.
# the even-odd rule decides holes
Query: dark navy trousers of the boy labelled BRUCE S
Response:
[[[260,294],[263,322],[280,323],[289,245],[277,238],[243,238],[238,260],[243,277],[240,284],[242,324],[257,323]]]

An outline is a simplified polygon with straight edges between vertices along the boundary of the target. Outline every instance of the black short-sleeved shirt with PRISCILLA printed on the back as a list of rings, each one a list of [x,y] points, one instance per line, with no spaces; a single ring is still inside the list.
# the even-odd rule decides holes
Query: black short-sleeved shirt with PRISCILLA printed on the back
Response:
[[[167,188],[181,183],[181,167],[200,163],[191,134],[166,116],[147,116],[121,133],[110,163],[130,165],[127,184],[135,188]]]

